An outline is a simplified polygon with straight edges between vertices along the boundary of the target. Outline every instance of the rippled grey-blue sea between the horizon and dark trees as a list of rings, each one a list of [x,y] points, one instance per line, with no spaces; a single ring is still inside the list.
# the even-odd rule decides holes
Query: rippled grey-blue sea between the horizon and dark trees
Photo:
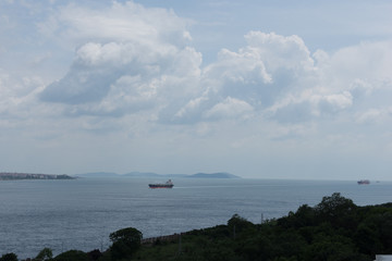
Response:
[[[254,223],[286,215],[302,204],[341,192],[358,206],[392,201],[392,183],[273,179],[174,179],[172,189],[150,189],[151,178],[0,182],[0,254],[33,258],[105,250],[109,234],[124,227],[144,238],[225,224],[235,213]]]

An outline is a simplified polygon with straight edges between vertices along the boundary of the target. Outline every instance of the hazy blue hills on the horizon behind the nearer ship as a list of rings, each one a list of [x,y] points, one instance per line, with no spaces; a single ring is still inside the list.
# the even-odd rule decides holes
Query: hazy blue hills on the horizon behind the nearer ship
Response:
[[[226,173],[196,173],[196,174],[157,174],[154,172],[130,172],[125,174],[118,174],[113,172],[91,172],[77,174],[79,177],[167,177],[167,178],[241,178],[240,176]]]

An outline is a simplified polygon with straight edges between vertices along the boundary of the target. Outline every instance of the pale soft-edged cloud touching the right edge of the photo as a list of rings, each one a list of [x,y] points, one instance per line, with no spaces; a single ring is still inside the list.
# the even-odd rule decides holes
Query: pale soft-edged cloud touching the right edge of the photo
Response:
[[[268,115],[283,122],[313,121],[347,109],[366,111],[375,103],[388,107],[390,48],[391,42],[383,41],[363,42],[332,54],[316,51],[314,66],[294,78],[299,88],[291,88],[277,99]]]

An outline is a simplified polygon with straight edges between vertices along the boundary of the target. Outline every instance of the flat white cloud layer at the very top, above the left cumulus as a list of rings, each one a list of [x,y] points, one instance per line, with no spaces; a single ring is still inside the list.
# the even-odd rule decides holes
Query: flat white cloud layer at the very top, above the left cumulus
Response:
[[[52,20],[58,26],[52,27]],[[127,1],[112,2],[105,9],[83,8],[69,4],[50,21],[40,24],[46,34],[54,34],[64,40],[140,42],[144,46],[167,48],[164,44],[184,45],[189,40],[187,21],[166,9],[146,9]],[[157,45],[160,42],[160,45]]]

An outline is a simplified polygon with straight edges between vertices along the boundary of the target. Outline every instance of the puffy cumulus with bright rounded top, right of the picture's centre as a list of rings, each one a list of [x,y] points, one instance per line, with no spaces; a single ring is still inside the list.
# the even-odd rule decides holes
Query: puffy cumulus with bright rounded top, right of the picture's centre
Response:
[[[299,37],[250,32],[245,39],[247,46],[237,52],[222,49],[218,61],[203,70],[200,96],[181,108],[175,120],[226,119],[229,110],[237,119],[249,111],[262,114],[287,91],[309,86],[314,60]]]

